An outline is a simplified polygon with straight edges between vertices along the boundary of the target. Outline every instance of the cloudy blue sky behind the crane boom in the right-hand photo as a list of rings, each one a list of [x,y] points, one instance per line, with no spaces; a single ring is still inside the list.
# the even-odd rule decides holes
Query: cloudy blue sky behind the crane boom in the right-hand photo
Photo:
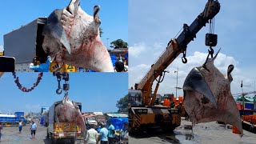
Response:
[[[158,59],[167,43],[182,29],[183,23],[189,26],[204,10],[205,1],[170,1],[162,0],[130,0],[129,6],[129,86],[139,82],[150,66]],[[240,83],[243,80],[244,90],[254,90],[256,79],[256,37],[254,25],[256,22],[256,1],[223,1],[219,0],[221,10],[215,17],[214,33],[218,34],[218,45],[221,54],[215,61],[215,66],[226,74],[227,66],[234,64],[234,81],[231,92],[241,92]],[[186,75],[194,66],[201,66],[206,60],[208,47],[205,46],[205,34],[209,24],[197,34],[187,48],[188,63],[182,64],[181,56],[167,68],[170,73],[159,87],[159,94],[175,93],[176,74],[178,69],[178,86],[182,86]],[[181,54],[182,55],[182,54]],[[182,90],[178,90],[182,95]]]

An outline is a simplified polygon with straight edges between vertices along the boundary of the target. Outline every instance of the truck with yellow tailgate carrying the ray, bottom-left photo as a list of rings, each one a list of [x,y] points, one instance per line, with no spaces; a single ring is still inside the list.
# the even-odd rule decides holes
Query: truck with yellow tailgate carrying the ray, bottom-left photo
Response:
[[[62,101],[54,102],[49,108],[47,138],[51,138],[52,143],[60,141],[75,143],[76,139],[82,135],[81,128],[74,122],[55,122],[54,114],[55,107]],[[76,102],[80,111],[82,110],[82,103]]]

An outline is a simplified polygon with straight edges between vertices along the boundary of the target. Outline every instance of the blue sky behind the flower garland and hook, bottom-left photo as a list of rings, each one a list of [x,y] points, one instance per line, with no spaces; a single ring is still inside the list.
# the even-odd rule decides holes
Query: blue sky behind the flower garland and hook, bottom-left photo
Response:
[[[17,73],[22,86],[30,88],[38,73]],[[74,102],[82,102],[82,112],[116,112],[117,101],[128,91],[127,73],[70,73],[69,98]],[[63,83],[64,81],[62,81]],[[18,90],[11,73],[0,78],[0,111],[39,112],[41,106],[51,106],[61,100],[64,93],[55,93],[58,87],[56,77],[52,73],[44,73],[41,82],[30,93]]]

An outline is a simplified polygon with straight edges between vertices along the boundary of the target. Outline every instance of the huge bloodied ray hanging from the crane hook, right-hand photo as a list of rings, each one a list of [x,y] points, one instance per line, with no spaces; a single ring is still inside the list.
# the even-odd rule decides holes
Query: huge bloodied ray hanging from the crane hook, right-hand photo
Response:
[[[205,65],[194,67],[187,75],[183,84],[185,110],[193,123],[225,122],[236,126],[242,134],[238,107],[230,92],[234,66],[228,66],[227,74],[223,75],[214,66],[217,55],[209,58]]]

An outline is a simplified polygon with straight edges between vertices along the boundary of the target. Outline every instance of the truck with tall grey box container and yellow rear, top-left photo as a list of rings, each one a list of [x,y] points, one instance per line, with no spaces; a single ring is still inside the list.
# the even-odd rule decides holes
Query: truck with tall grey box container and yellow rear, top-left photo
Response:
[[[4,35],[3,56],[15,59],[16,72],[28,72],[30,63],[34,66],[45,63],[47,54],[42,49],[42,30],[47,22],[47,18],[36,18],[33,22],[21,26]],[[4,58],[4,57],[3,57]],[[50,63],[50,72],[77,72],[78,67],[70,65],[59,65],[58,62]]]

